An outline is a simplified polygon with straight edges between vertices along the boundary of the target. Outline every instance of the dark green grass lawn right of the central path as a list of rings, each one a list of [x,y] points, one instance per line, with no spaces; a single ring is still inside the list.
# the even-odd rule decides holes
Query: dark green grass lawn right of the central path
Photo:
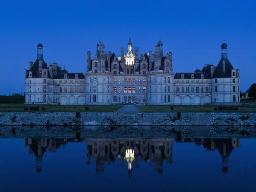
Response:
[[[238,107],[238,110],[214,110],[214,108],[218,107],[218,105],[137,105],[136,107],[139,108],[141,112],[256,112],[256,106],[253,107],[235,105],[233,107]],[[171,108],[173,108],[173,110],[171,110]]]

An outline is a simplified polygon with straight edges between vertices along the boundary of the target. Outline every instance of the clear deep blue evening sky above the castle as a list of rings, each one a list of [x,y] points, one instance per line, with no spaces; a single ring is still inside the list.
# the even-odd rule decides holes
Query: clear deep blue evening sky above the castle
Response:
[[[24,92],[24,70],[36,59],[39,39],[46,63],[85,73],[86,52],[95,54],[99,36],[117,55],[129,36],[140,53],[154,52],[161,37],[164,54],[173,53],[174,72],[217,65],[225,39],[246,91],[255,82],[255,21],[254,0],[1,0],[0,95]]]

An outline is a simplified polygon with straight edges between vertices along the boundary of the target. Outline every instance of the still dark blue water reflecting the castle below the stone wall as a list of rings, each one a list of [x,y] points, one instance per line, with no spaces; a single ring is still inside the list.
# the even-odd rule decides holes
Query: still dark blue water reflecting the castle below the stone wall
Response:
[[[0,138],[0,191],[241,192],[256,188],[256,139],[252,137],[83,139],[77,135]]]

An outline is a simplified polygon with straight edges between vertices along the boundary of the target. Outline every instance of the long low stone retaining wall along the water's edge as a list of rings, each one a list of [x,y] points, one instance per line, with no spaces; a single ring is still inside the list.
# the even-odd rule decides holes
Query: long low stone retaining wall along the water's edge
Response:
[[[255,126],[256,113],[2,112],[0,125]]]

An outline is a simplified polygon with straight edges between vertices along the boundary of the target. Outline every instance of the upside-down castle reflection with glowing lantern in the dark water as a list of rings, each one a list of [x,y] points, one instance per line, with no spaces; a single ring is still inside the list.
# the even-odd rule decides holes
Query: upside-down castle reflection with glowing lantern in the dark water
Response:
[[[217,151],[222,157],[222,170],[228,173],[228,158],[234,147],[240,146],[240,140],[235,139],[85,139],[87,145],[87,164],[90,164],[91,157],[96,163],[96,172],[104,171],[104,164],[115,162],[116,158],[121,159],[121,167],[124,162],[128,164],[129,175],[132,172],[132,164],[139,168],[140,161],[148,162],[152,165],[155,163],[155,169],[158,174],[163,173],[163,161],[167,164],[172,163],[173,143],[176,142],[195,142],[195,145],[202,145],[206,151]],[[36,156],[36,170],[42,169],[42,156],[48,149],[50,152],[56,152],[67,142],[83,142],[83,139],[67,138],[26,138],[25,146],[29,146],[29,153]]]

